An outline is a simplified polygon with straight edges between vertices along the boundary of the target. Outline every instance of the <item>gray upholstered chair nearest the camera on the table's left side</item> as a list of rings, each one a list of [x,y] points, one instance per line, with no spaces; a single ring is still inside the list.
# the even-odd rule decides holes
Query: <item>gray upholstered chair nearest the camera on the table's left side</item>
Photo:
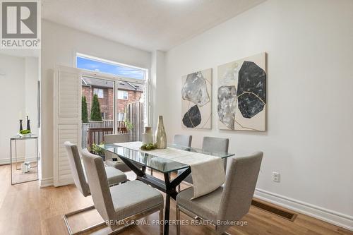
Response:
[[[81,154],[95,208],[112,230],[119,231],[126,221],[140,219],[156,211],[160,211],[160,219],[163,219],[164,201],[159,191],[141,181],[128,181],[109,188],[107,175],[102,173],[103,159],[88,150]],[[161,223],[160,234],[162,231]]]

